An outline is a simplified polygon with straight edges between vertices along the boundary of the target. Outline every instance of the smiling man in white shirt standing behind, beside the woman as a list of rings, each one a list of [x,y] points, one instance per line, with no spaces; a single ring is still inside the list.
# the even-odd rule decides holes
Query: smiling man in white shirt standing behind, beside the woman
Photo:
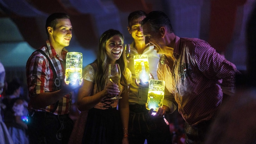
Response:
[[[169,125],[166,125],[163,118],[152,119],[146,109],[145,103],[148,99],[148,85],[143,82],[135,82],[134,55],[147,54],[150,73],[155,79],[156,66],[160,55],[154,51],[154,46],[145,44],[145,37],[140,21],[146,17],[146,12],[134,11],[128,16],[128,32],[133,38],[131,44],[132,57],[128,61],[128,68],[132,72],[132,84],[129,91],[129,142],[132,144],[144,144],[147,139],[148,144],[170,144],[171,134]]]

